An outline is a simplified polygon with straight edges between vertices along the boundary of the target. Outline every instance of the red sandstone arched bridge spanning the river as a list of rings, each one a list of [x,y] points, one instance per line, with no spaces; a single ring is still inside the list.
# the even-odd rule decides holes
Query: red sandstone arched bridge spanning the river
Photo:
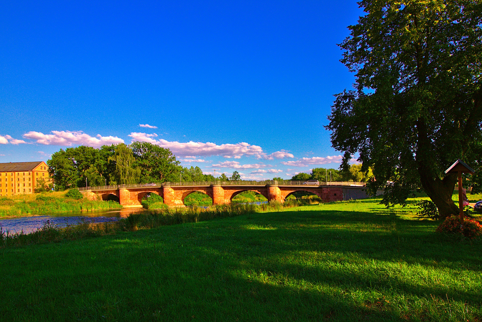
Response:
[[[324,202],[367,198],[361,182],[327,182],[320,186],[308,185],[305,181],[164,182],[83,187],[79,190],[91,200],[107,200],[109,195],[117,196],[119,203],[125,207],[142,207],[142,198],[148,193],[158,194],[168,206],[183,206],[184,199],[194,191],[207,194],[213,199],[213,204],[231,202],[233,197],[247,190],[262,194],[268,201],[280,202],[296,191],[312,192]]]

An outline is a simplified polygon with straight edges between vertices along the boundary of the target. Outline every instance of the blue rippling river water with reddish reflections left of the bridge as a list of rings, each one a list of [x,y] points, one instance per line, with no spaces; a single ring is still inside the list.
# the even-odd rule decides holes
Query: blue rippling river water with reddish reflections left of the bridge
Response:
[[[29,233],[41,228],[43,223],[47,220],[59,225],[59,227],[65,227],[67,225],[75,225],[81,223],[82,220],[87,220],[92,223],[103,223],[106,221],[115,221],[122,217],[139,211],[137,209],[110,209],[102,211],[84,211],[84,212],[69,212],[69,213],[52,213],[43,214],[39,216],[31,217],[16,217],[16,218],[0,218],[0,224],[2,230],[9,229],[11,232]]]

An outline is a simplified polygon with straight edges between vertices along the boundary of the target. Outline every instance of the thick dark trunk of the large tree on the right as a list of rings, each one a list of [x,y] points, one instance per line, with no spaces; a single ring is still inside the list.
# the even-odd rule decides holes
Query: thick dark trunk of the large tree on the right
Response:
[[[458,206],[452,200],[456,179],[457,174],[449,174],[441,180],[439,178],[429,178],[426,174],[420,173],[422,187],[437,206],[440,220],[444,220],[451,215],[458,215]]]

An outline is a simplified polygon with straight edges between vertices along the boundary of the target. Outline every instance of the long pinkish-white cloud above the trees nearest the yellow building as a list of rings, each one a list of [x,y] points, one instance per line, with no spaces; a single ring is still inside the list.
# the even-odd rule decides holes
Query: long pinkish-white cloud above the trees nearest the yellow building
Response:
[[[90,147],[101,147],[103,145],[111,145],[124,143],[124,140],[117,136],[101,136],[97,134],[95,137],[85,134],[82,131],[51,131],[53,134],[43,134],[40,132],[30,131],[23,136],[27,139],[35,140],[36,143],[43,145],[55,146],[72,146],[86,145]]]

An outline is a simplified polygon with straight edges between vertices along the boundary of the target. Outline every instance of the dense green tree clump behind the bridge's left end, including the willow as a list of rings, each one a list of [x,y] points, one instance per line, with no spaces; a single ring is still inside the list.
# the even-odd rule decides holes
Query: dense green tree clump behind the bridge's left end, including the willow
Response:
[[[104,186],[172,181],[211,181],[199,167],[183,167],[167,148],[148,142],[61,149],[47,161],[56,187]]]

